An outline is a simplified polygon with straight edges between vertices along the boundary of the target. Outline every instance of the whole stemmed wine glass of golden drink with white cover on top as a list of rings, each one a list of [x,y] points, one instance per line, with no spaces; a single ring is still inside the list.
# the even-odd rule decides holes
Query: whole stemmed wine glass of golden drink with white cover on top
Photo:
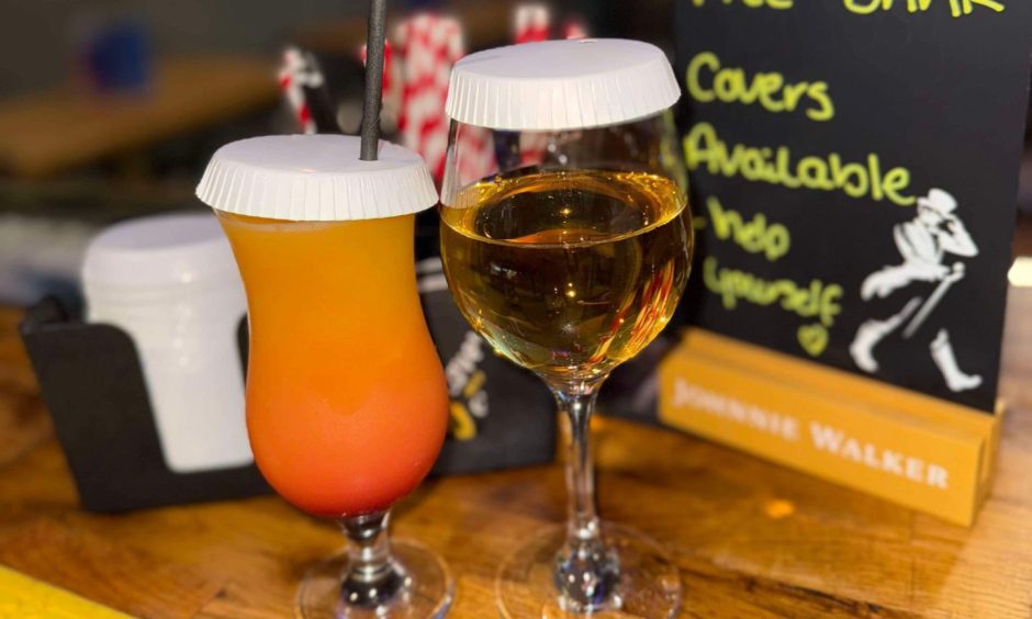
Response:
[[[598,389],[664,328],[691,268],[685,167],[662,53],[561,41],[468,56],[452,75],[441,254],[467,320],[536,372],[570,421],[569,522],[501,567],[503,616],[673,616],[676,567],[603,525],[588,421]],[[486,173],[485,173],[486,172]]]

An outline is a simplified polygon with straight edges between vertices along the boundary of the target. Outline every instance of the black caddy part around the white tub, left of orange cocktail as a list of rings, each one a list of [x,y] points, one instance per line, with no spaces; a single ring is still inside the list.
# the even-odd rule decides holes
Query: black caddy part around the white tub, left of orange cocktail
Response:
[[[186,474],[168,469],[136,345],[122,329],[79,322],[47,297],[29,308],[19,330],[87,510],[270,492],[254,464]]]

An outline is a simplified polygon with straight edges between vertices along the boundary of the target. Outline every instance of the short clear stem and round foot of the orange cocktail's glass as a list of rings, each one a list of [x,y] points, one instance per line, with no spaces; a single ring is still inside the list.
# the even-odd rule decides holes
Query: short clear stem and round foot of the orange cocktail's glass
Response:
[[[444,617],[452,579],[445,563],[411,541],[388,537],[389,511],[341,518],[346,553],[314,566],[298,592],[305,618]]]

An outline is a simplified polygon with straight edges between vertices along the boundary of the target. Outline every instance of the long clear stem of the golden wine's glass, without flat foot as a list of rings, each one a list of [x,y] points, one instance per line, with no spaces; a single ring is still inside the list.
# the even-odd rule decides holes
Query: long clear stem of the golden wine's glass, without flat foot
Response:
[[[619,561],[607,549],[595,509],[591,417],[602,381],[552,385],[559,409],[570,419],[567,449],[569,522],[567,542],[556,558],[556,586],[564,610],[591,612],[618,607]]]

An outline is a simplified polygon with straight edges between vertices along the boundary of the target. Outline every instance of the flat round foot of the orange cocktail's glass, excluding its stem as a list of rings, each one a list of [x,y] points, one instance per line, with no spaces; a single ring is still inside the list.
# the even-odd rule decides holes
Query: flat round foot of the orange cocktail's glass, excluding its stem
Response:
[[[406,575],[405,588],[378,607],[345,605],[340,582],[348,567],[347,554],[313,565],[298,589],[295,617],[305,619],[424,619],[444,617],[451,606],[455,581],[444,560],[426,547],[391,540],[391,555]]]

